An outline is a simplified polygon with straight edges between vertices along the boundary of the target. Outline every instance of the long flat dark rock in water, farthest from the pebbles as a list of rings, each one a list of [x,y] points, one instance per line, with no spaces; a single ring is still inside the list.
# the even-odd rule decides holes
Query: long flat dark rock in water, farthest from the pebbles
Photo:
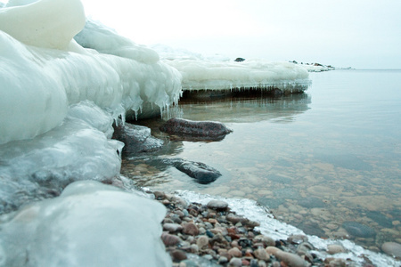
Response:
[[[219,122],[192,121],[184,118],[170,118],[160,126],[160,131],[179,136],[201,137],[201,140],[221,140],[226,134],[233,132]]]

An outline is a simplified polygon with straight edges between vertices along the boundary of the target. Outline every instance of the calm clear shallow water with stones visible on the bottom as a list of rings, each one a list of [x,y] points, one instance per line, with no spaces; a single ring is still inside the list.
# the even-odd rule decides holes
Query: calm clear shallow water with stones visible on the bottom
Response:
[[[154,190],[254,199],[318,237],[372,250],[401,243],[401,70],[310,77],[303,94],[180,101],[165,119],[216,120],[233,134],[220,142],[168,142],[158,130],[163,120],[143,121],[168,145],[151,158],[125,158],[121,173]],[[223,175],[199,184],[152,158],[202,162]]]

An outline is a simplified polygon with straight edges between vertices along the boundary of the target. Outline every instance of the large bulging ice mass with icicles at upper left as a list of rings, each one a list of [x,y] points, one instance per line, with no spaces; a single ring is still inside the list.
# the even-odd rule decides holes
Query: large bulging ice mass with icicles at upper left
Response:
[[[38,22],[31,22],[35,18]],[[178,100],[180,74],[151,49],[126,40],[119,52],[110,52],[104,47],[121,44],[116,40],[123,38],[102,28],[96,32],[102,34],[87,31],[88,38],[103,44],[101,53],[78,45],[72,36],[85,20],[82,4],[75,0],[0,9],[0,143],[49,131],[79,101],[93,101],[117,117],[127,110],[140,112],[143,102],[163,109]]]

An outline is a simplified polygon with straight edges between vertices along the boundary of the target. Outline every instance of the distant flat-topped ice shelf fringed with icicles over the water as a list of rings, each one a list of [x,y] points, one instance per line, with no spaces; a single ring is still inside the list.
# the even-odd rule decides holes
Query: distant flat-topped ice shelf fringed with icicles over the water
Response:
[[[174,50],[163,45],[155,45],[153,48],[160,52],[163,61],[180,71],[184,90],[270,91],[278,88],[284,93],[299,93],[310,85],[307,70],[290,62],[260,59],[227,61],[220,55],[205,58],[196,53]]]

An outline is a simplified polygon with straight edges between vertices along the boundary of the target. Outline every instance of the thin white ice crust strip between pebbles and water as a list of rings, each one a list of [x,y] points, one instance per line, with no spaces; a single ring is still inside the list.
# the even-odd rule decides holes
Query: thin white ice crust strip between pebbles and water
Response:
[[[273,215],[268,211],[266,206],[259,205],[256,201],[247,198],[223,198],[218,196],[210,196],[199,194],[190,190],[177,190],[177,196],[189,202],[196,202],[207,205],[210,200],[223,200],[228,203],[231,210],[237,214],[246,216],[248,219],[260,223],[258,230],[264,235],[273,239],[286,240],[294,234],[305,235],[298,228],[282,223],[274,219]],[[307,236],[308,241],[317,249],[314,251],[323,259],[326,257],[336,257],[342,259],[351,259],[356,266],[363,266],[364,257],[372,261],[375,266],[400,266],[401,262],[397,261],[389,255],[383,255],[370,250],[364,249],[349,240],[320,239],[316,236]],[[326,253],[327,246],[331,244],[340,244],[348,250],[348,253],[337,255],[329,255]]]

